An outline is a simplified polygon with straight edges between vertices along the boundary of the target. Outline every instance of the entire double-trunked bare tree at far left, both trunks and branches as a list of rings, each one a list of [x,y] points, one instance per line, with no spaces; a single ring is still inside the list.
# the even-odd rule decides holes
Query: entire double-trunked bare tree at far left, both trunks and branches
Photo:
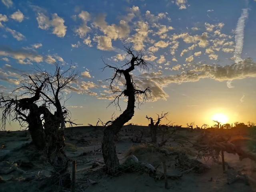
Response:
[[[68,158],[64,152],[64,128],[66,123],[74,124],[64,106],[63,92],[77,77],[72,66],[64,69],[63,66],[55,64],[54,73],[38,68],[36,74],[24,75],[20,87],[15,90],[21,92],[18,97],[0,98],[3,109],[2,124],[5,126],[6,118],[13,114],[14,120],[18,120],[21,126],[28,124],[33,142],[44,149],[48,161],[58,177],[62,177],[63,183],[70,180]],[[34,96],[18,99],[30,95]]]

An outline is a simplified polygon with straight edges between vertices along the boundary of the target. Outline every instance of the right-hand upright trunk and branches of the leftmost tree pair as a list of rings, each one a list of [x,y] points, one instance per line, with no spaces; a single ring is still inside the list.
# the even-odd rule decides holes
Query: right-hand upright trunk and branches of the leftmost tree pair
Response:
[[[45,81],[44,89],[40,91],[43,104],[40,109],[43,114],[44,132],[46,138],[46,154],[54,170],[62,176],[63,182],[70,179],[68,173],[68,158],[64,152],[64,128],[70,121],[69,111],[65,108],[63,92],[76,80],[77,73],[70,66],[67,69],[55,64],[54,73],[37,70],[37,75],[28,76],[32,88]],[[24,82],[26,84],[26,81]],[[30,87],[30,88],[31,88]],[[67,181],[65,181],[67,180]]]

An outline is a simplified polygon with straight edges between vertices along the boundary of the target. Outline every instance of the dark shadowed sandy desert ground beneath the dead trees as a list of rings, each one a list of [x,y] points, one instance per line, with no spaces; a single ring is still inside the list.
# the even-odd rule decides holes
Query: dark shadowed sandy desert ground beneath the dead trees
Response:
[[[126,131],[125,131],[126,129]],[[122,129],[116,142],[116,149],[120,163],[126,160],[126,154],[131,146],[140,145],[132,142],[131,138],[136,134],[136,130],[144,130],[143,142],[149,142],[150,137],[148,127],[126,126]],[[102,127],[76,127],[66,131],[66,154],[71,160],[77,162],[76,191],[78,192],[244,192],[256,191],[252,183],[236,181],[227,184],[230,176],[229,171],[223,173],[220,164],[213,164],[200,160],[209,166],[209,170],[204,173],[189,172],[183,174],[180,179],[168,179],[168,189],[164,188],[164,180],[155,181],[148,172],[121,172],[118,176],[112,177],[104,173],[104,161],[101,153]],[[200,131],[190,132],[187,129],[179,130],[177,135],[186,136],[191,141],[201,134]],[[160,141],[160,136],[158,138]],[[38,152],[27,131],[0,132],[0,192],[39,192],[39,191],[60,191],[58,184],[53,186],[42,186],[42,178],[50,176],[51,166]],[[190,158],[196,158],[191,153],[196,153],[190,143],[183,143],[180,140],[169,139],[166,146],[186,148]],[[138,156],[143,161],[150,164],[159,162],[158,157],[148,154]],[[160,158],[160,157],[159,157]],[[251,178],[256,179],[256,163],[250,159],[239,160],[234,154],[226,154],[225,160],[236,171],[246,173]],[[169,163],[169,162],[167,162]],[[18,168],[8,174],[10,169]],[[161,170],[162,167],[160,166]],[[172,172],[176,168],[168,166],[167,172]],[[70,164],[71,170],[71,164]],[[4,181],[3,181],[4,180]],[[63,191],[70,191],[63,189]]]

